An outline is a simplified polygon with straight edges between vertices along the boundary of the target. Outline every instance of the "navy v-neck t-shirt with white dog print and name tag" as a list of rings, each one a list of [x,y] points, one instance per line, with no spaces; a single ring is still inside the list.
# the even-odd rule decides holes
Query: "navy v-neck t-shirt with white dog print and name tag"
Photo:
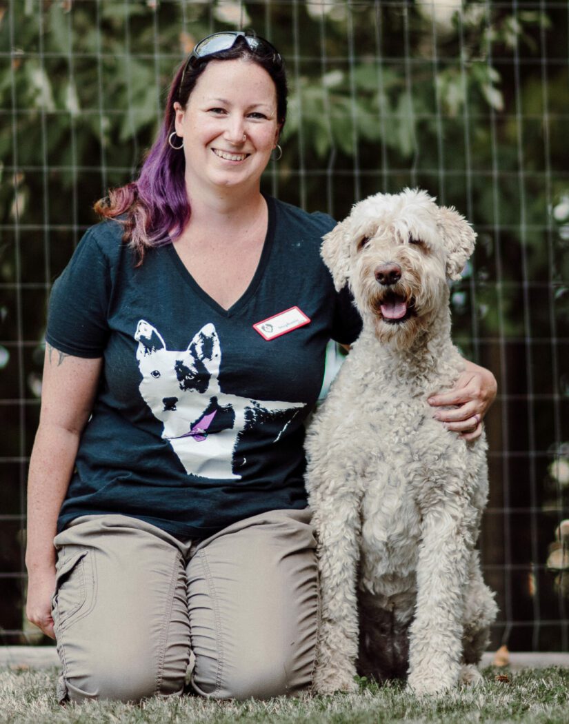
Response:
[[[136,266],[118,222],[85,233],[51,292],[46,341],[104,365],[59,531],[80,515],[121,513],[203,538],[305,507],[304,422],[326,344],[353,342],[361,320],[319,255],[334,220],[266,200],[258,268],[227,310],[172,244]],[[290,331],[274,336],[290,309]],[[253,325],[265,320],[260,334]]]

